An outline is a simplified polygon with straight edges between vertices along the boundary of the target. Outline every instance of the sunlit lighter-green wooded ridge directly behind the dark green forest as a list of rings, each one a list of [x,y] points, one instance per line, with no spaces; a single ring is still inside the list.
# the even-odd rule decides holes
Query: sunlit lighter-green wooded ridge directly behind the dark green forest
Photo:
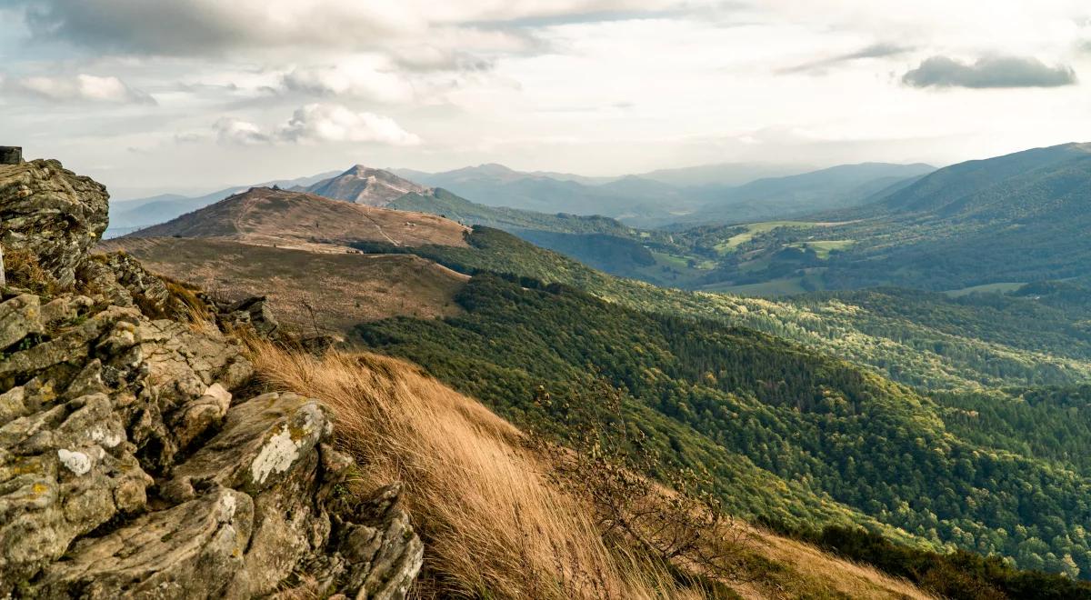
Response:
[[[488,271],[562,283],[642,311],[744,325],[927,388],[1065,384],[1091,375],[1091,310],[1069,298],[1079,296],[1078,289],[1028,288],[1003,299],[885,290],[771,301],[612,277],[484,227],[476,227],[467,241],[469,248],[361,249],[411,252],[460,273]]]

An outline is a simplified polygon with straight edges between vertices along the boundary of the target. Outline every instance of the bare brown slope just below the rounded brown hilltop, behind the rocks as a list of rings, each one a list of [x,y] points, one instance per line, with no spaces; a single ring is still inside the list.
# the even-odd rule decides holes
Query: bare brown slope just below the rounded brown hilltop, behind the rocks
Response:
[[[223,301],[267,297],[283,325],[308,335],[339,336],[359,323],[396,315],[458,314],[454,296],[467,280],[413,255],[313,252],[223,238],[121,238],[96,250],[123,251]]]

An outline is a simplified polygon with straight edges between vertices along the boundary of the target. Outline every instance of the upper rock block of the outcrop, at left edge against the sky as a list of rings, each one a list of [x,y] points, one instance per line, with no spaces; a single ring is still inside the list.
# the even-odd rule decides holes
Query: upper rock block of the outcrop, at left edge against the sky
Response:
[[[35,259],[48,283],[75,281],[75,268],[106,231],[106,188],[56,160],[0,165],[0,245]]]

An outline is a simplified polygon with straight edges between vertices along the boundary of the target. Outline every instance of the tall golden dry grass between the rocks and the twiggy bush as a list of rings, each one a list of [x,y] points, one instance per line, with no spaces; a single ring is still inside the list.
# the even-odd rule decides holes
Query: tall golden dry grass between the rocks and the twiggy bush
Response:
[[[559,488],[525,436],[418,368],[370,353],[254,349],[273,386],[316,397],[357,458],[360,491],[404,482],[425,542],[421,596],[702,598],[639,552],[608,545],[595,512]]]

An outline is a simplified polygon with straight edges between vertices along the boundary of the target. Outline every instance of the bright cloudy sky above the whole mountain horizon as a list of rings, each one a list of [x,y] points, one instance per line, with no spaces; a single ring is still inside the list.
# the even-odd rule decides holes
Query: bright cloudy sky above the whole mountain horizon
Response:
[[[115,197],[1091,141],[1086,0],[0,0],[0,144]]]

